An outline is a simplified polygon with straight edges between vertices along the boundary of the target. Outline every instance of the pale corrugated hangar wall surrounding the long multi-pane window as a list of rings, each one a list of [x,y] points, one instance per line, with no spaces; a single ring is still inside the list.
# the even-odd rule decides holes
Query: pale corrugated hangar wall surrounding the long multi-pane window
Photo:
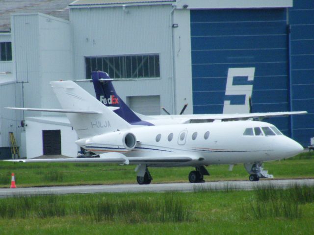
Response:
[[[85,56],[159,54],[160,79],[114,85],[124,100],[160,95],[161,105],[172,112],[171,9],[171,5],[71,8],[76,79],[85,79]]]

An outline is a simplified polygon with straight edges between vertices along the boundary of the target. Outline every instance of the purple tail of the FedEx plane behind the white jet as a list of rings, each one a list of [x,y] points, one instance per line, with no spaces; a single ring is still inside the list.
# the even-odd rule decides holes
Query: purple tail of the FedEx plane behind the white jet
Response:
[[[111,79],[108,73],[103,71],[93,71],[92,81],[96,93],[96,98],[105,106],[117,107],[114,110],[117,115],[129,122],[131,125],[146,125],[152,126],[153,124],[141,120],[137,115],[123,102],[119,95],[114,90]]]

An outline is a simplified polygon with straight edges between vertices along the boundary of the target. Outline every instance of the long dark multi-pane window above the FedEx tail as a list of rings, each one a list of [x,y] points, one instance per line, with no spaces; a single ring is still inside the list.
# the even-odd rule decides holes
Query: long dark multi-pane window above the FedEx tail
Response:
[[[86,79],[91,71],[105,71],[110,78],[160,77],[159,55],[85,57]]]

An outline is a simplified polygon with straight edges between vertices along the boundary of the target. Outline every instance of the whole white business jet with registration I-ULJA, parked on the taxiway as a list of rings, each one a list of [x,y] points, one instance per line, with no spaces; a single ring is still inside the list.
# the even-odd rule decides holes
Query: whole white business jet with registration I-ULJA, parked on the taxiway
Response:
[[[105,106],[73,81],[51,82],[51,85],[62,109],[10,109],[66,113],[78,134],[76,143],[99,157],[8,161],[136,164],[138,184],[151,183],[148,167],[193,166],[195,170],[189,173],[188,179],[198,183],[203,182],[204,175],[209,175],[205,166],[244,164],[249,179],[258,181],[272,177],[262,168],[263,162],[293,157],[303,150],[272,124],[253,120],[221,121],[223,115],[212,122],[154,125],[143,121],[134,125],[114,112],[119,107]],[[303,113],[306,112],[284,112],[283,115]],[[266,114],[250,114],[248,118]],[[279,114],[273,113],[273,116]],[[238,118],[244,117],[238,115]]]

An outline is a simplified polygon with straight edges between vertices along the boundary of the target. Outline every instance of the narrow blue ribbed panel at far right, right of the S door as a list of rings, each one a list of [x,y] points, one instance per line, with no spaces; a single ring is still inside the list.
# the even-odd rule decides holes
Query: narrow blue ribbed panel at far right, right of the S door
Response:
[[[314,1],[294,0],[289,24],[292,108],[309,113],[292,117],[293,137],[307,146],[314,137]]]

